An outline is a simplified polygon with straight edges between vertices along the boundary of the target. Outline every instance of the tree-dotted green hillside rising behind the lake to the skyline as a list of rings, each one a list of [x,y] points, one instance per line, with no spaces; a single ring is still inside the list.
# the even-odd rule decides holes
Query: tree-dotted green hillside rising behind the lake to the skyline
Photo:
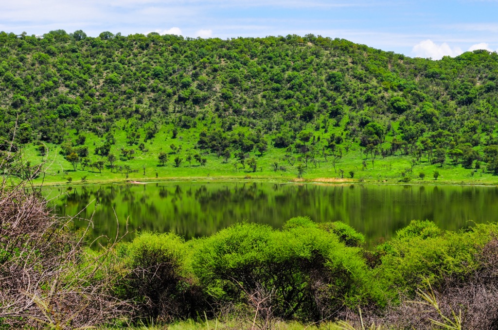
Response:
[[[432,61],[314,35],[56,30],[1,32],[0,55],[0,137],[48,181],[498,173],[497,53]]]

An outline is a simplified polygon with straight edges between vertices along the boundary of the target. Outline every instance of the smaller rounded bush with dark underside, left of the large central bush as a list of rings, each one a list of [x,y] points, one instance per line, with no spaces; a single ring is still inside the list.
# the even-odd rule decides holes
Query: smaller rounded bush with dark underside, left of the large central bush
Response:
[[[117,249],[122,280],[118,297],[132,300],[138,307],[135,317],[172,321],[194,317],[203,310],[203,300],[187,260],[188,249],[179,236],[141,233]]]

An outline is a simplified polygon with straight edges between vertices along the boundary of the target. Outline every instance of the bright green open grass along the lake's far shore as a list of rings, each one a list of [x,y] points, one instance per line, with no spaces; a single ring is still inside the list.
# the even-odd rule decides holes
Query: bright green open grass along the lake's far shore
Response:
[[[123,125],[124,121],[118,122],[117,126]],[[105,184],[125,181],[170,181],[170,180],[255,180],[255,181],[304,181],[304,182],[325,182],[325,183],[343,183],[343,182],[365,182],[365,183],[387,183],[387,184],[458,184],[458,185],[496,185],[498,177],[487,173],[484,169],[465,169],[461,165],[452,165],[450,160],[444,166],[434,165],[427,162],[422,157],[420,163],[411,165],[410,156],[389,156],[377,159],[372,163],[371,159],[366,159],[359,145],[353,144],[349,152],[336,163],[334,169],[332,157],[325,160],[322,156],[317,157],[319,162],[316,165],[308,163],[302,177],[299,178],[297,165],[299,161],[290,164],[284,160],[285,150],[274,148],[271,143],[268,150],[260,155],[258,152],[251,152],[249,157],[254,157],[257,162],[256,171],[253,172],[248,165],[245,168],[239,163],[232,153],[228,160],[217,157],[212,153],[204,153],[202,157],[207,159],[206,166],[199,165],[195,160],[188,163],[185,159],[188,154],[194,155],[202,152],[195,149],[198,132],[203,128],[200,127],[192,130],[180,130],[176,138],[172,138],[173,125],[162,126],[156,136],[144,143],[144,151],[140,151],[137,145],[131,147],[126,145],[126,136],[124,130],[117,130],[115,133],[116,144],[112,146],[111,153],[117,158],[117,166],[128,165],[133,172],[126,177],[125,173],[118,171],[111,172],[106,158],[94,154],[96,146],[102,145],[103,138],[95,134],[86,133],[85,145],[89,149],[89,158],[92,161],[97,159],[106,160],[106,168],[100,173],[92,168],[81,169],[78,165],[76,171],[64,156],[60,153],[61,147],[55,144],[45,144],[48,152],[47,155],[41,156],[37,150],[38,146],[34,144],[25,145],[23,149],[25,159],[29,160],[32,165],[45,163],[45,176],[35,180],[35,184],[44,185],[61,185],[65,183],[74,184]],[[76,131],[72,131],[69,139],[76,137]],[[386,142],[388,143],[388,142]],[[170,145],[181,146],[181,151],[174,153]],[[130,160],[120,159],[120,148],[135,149],[134,157]],[[168,161],[164,166],[160,166],[158,155],[160,152],[168,154]],[[297,157],[296,154],[292,155]],[[180,166],[174,165],[174,158],[181,157],[183,162]],[[273,164],[278,167],[284,167],[283,170],[274,171]],[[365,162],[365,163],[364,163]],[[366,167],[364,166],[366,164]],[[411,169],[411,173],[406,177],[409,179],[402,181],[402,173]],[[343,170],[341,175],[340,170]],[[433,178],[433,173],[439,172],[437,180]],[[353,178],[351,173],[354,173]],[[423,173],[425,177],[420,178],[419,174]]]

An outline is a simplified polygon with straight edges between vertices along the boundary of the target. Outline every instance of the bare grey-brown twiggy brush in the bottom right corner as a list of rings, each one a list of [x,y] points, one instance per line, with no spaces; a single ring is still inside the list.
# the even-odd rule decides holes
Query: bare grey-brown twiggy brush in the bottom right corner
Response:
[[[462,329],[496,329],[498,324],[498,240],[491,239],[475,255],[479,266],[464,278],[446,277],[434,291],[439,310],[428,308],[419,294],[413,301],[404,297],[400,306],[393,306],[384,314],[389,329],[434,329],[435,322],[447,324],[443,316],[462,312]],[[427,286],[427,282],[424,283]],[[431,294],[430,288],[421,289]],[[420,293],[420,291],[419,291]],[[434,320],[434,321],[432,321]],[[450,327],[443,327],[450,329]],[[456,328],[451,328],[456,329]]]

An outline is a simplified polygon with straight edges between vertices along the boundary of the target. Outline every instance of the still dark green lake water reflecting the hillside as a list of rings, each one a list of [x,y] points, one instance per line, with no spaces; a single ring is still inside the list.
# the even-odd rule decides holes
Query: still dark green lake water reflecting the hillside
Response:
[[[189,239],[238,221],[278,228],[308,216],[341,220],[373,243],[414,219],[450,230],[498,220],[498,187],[178,182],[59,187],[45,195],[57,214],[81,218],[77,226],[92,219],[94,237],[115,237],[127,225],[125,240],[138,230]]]

